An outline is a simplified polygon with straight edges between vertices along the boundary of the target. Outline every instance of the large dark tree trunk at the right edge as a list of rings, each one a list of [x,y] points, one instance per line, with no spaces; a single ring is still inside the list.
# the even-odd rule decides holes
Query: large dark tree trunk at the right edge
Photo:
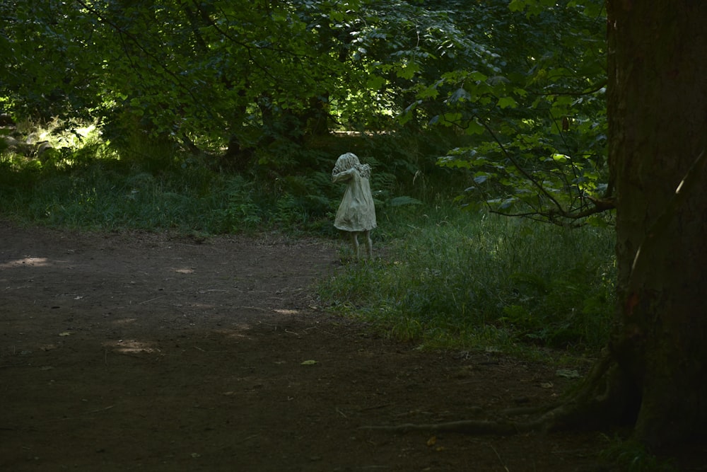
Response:
[[[619,268],[610,348],[635,395],[636,438],[660,445],[707,420],[707,2],[607,8]]]

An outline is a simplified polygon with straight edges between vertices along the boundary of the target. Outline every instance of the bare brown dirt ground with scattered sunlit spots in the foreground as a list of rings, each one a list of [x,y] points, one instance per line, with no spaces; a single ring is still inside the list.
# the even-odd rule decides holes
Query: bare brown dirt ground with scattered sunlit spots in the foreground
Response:
[[[327,314],[312,284],[340,265],[322,241],[0,221],[0,470],[609,470],[597,432],[362,429],[539,405],[571,380]]]

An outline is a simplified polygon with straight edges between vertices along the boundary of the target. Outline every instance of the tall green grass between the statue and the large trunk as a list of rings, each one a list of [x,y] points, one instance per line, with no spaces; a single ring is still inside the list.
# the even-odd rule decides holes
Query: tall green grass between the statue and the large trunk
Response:
[[[429,209],[428,209],[429,210]],[[449,207],[400,226],[373,261],[320,284],[333,309],[423,345],[596,348],[614,299],[612,231]],[[389,235],[390,238],[391,235]]]

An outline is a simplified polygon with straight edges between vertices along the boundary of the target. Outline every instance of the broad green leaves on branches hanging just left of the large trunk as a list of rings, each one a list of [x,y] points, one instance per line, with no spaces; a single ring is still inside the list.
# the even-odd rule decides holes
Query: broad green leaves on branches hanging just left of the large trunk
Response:
[[[481,194],[493,211],[562,224],[613,206],[600,5],[478,7],[494,19],[486,35],[498,61],[450,71],[426,91],[447,105],[433,121],[477,136],[440,159],[468,173],[464,200]]]

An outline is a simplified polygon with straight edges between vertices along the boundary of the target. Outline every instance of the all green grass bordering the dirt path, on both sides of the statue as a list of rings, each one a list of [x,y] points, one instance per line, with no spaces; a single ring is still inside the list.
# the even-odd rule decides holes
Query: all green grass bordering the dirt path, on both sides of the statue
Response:
[[[332,219],[341,188],[331,185],[328,169],[244,177],[171,152],[153,160],[168,162],[156,169],[119,159],[100,139],[39,159],[5,151],[0,214],[83,230],[337,237]],[[378,178],[373,236],[382,251],[318,285],[332,310],[426,347],[508,352],[605,343],[614,310],[612,229],[462,212],[449,197],[423,203],[399,195],[392,175]],[[349,260],[346,250],[341,255]]]

